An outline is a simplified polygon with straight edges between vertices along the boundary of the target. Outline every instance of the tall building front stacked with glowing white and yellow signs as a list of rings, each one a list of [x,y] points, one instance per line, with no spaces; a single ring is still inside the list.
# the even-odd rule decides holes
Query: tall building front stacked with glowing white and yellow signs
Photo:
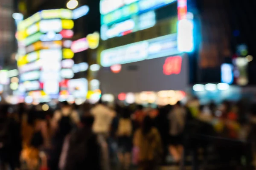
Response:
[[[81,11],[85,8],[43,10],[18,24],[16,38],[22,54],[17,55],[17,65],[20,85],[29,91],[26,96],[58,98],[60,82],[73,78],[73,14],[85,15],[88,9]]]

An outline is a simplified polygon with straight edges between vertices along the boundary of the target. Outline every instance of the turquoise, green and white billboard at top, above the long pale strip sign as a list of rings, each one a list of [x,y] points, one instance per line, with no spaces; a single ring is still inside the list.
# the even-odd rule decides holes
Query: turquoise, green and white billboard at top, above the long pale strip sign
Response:
[[[108,40],[153,27],[157,20],[177,16],[177,8],[168,7],[165,15],[159,8],[177,0],[101,0],[101,38]]]

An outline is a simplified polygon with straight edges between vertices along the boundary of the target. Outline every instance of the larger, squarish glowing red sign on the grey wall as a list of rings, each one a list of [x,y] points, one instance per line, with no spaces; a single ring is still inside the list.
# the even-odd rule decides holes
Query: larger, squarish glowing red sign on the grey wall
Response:
[[[182,58],[180,56],[168,57],[163,65],[163,74],[180,74]]]

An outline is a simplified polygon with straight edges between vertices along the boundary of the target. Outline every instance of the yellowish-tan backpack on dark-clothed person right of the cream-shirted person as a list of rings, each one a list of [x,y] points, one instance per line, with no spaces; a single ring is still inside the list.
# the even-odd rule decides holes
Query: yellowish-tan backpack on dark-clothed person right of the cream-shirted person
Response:
[[[130,119],[121,118],[119,120],[117,135],[118,136],[131,136],[132,122]]]

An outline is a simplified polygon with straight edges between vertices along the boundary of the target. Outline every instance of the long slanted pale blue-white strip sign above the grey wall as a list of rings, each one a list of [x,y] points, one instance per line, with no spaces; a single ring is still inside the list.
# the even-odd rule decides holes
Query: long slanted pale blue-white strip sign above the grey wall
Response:
[[[177,35],[170,34],[104,50],[101,53],[101,65],[109,67],[111,65],[166,57],[178,53]]]

